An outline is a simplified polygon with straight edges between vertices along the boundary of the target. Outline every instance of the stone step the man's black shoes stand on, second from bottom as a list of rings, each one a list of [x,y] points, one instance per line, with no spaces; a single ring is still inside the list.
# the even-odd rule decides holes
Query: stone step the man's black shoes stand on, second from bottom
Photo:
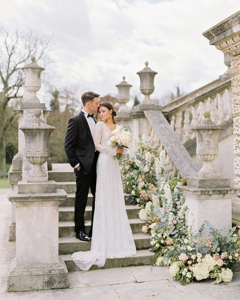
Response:
[[[150,248],[150,235],[138,233],[133,235],[137,250]],[[77,251],[88,251],[91,248],[91,242],[79,241],[74,237],[59,238],[59,254],[72,254]]]

